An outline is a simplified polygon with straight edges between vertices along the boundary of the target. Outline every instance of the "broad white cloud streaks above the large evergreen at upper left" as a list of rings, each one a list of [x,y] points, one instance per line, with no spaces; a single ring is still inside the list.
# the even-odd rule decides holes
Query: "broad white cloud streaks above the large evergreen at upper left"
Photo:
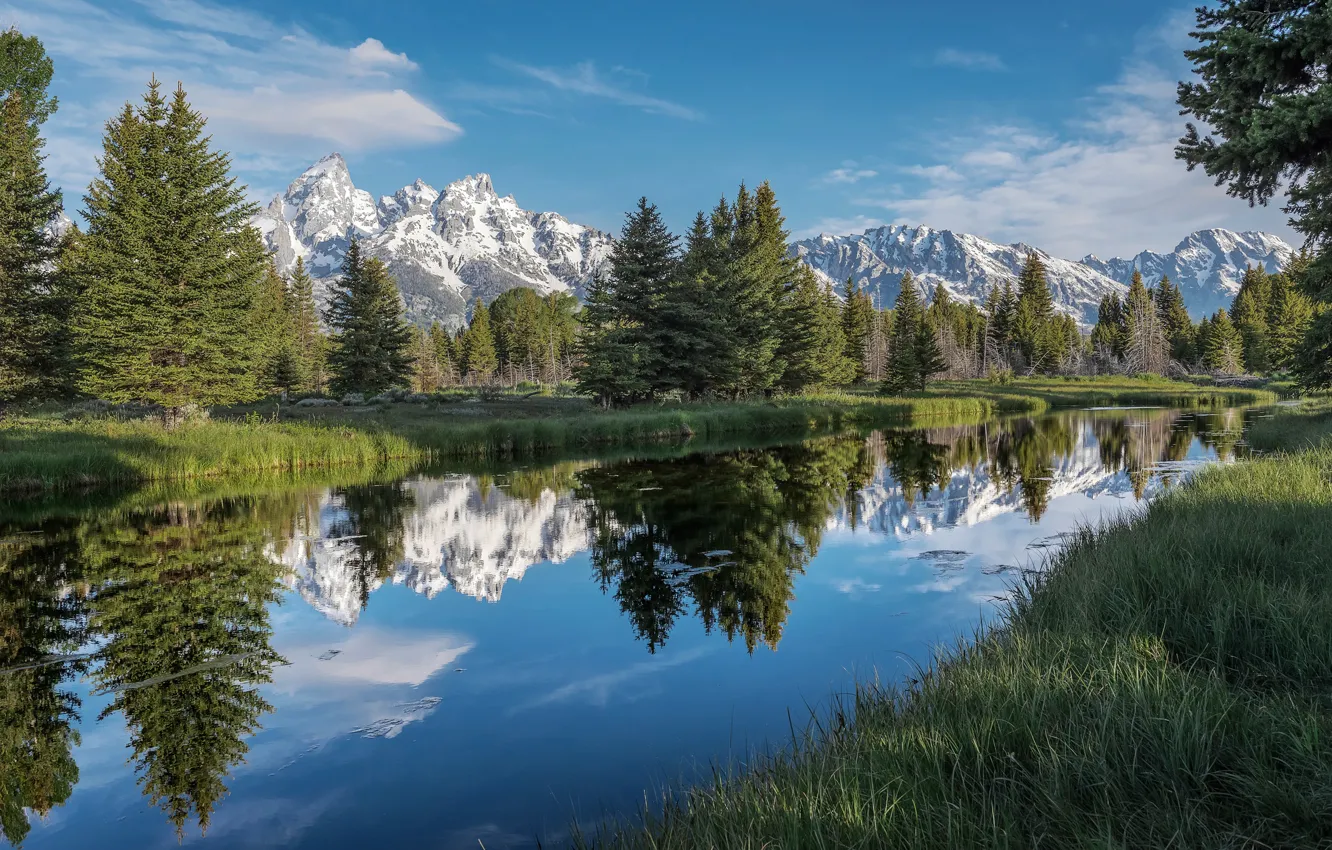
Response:
[[[185,87],[237,161],[270,160],[277,148],[284,160],[309,161],[332,148],[429,145],[462,133],[405,85],[416,63],[377,39],[340,47],[202,0],[0,0],[0,17],[39,36],[65,80],[45,129],[48,171],[69,207],[96,168],[83,155],[155,75],[168,88]]]

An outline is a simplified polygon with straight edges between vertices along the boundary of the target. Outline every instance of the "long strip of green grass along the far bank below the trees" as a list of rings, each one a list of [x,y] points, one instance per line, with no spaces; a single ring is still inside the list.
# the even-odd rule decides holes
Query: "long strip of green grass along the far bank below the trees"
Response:
[[[445,460],[535,457],[565,449],[686,442],[726,434],[838,433],[868,425],[979,421],[1099,405],[1241,406],[1265,389],[1159,378],[938,382],[900,397],[821,393],[719,404],[602,410],[586,400],[518,397],[366,406],[218,409],[165,428],[155,420],[68,416],[35,408],[0,421],[0,492],[43,492],[366,468]]]

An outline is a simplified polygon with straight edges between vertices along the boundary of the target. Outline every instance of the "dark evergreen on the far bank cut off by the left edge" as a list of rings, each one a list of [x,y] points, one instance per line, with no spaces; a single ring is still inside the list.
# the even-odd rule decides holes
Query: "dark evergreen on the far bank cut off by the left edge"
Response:
[[[12,36],[0,35],[0,45],[12,45]],[[69,304],[60,285],[60,244],[48,226],[61,199],[47,181],[44,141],[29,116],[24,95],[11,91],[0,105],[0,402],[56,394],[69,372]]]

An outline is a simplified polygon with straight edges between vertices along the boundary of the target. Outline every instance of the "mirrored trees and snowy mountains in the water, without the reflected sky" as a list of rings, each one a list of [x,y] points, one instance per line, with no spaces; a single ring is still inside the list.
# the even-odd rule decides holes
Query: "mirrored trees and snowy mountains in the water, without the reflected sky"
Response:
[[[288,663],[273,649],[282,601],[350,629],[385,585],[498,602],[529,568],[579,556],[639,653],[694,624],[765,654],[832,532],[900,541],[1012,514],[1040,524],[1070,494],[1144,498],[1199,445],[1243,450],[1243,425],[1239,412],[1083,412],[0,522],[0,830],[21,843],[63,806],[80,730],[111,722],[149,803],[178,835],[206,830],[256,730],[282,710],[270,687]],[[968,554],[916,557],[951,574]],[[842,585],[848,598],[880,589]],[[547,625],[526,624],[534,650]],[[426,677],[472,647],[437,643],[402,642],[433,658]],[[332,657],[285,670],[296,686]],[[390,738],[438,706],[404,701],[353,731]]]

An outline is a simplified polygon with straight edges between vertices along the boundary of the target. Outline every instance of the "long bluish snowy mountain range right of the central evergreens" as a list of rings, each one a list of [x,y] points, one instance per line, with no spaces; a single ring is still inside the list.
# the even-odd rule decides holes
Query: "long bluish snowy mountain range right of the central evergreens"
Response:
[[[927,293],[942,282],[952,297],[980,304],[995,284],[1016,281],[1027,254],[1035,252],[1046,262],[1056,306],[1084,325],[1096,321],[1103,296],[1127,292],[1135,268],[1148,284],[1169,274],[1181,285],[1189,312],[1201,317],[1229,305],[1245,265],[1275,272],[1293,254],[1269,233],[1200,230],[1169,254],[1143,252],[1132,260],[1087,257],[1079,262],[1023,242],[1000,245],[968,233],[906,225],[851,236],[825,233],[795,242],[791,250],[839,292],[852,277],[884,308],[896,300],[904,272]]]

